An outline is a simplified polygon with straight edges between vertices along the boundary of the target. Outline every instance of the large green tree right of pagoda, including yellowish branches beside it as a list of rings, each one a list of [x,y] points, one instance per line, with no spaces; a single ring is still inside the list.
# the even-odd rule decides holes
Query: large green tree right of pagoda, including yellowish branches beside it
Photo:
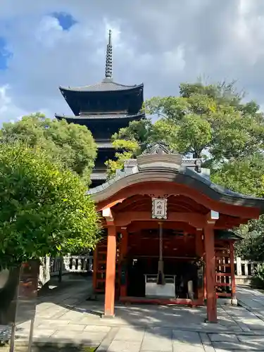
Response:
[[[206,156],[210,166],[258,153],[263,149],[263,113],[254,101],[242,103],[243,98],[234,82],[209,85],[198,82],[180,84],[179,96],[156,96],[145,101],[146,114],[156,114],[159,120],[134,121],[113,135],[118,153],[116,162],[107,163],[111,165],[110,175],[115,168],[122,168],[127,156],[136,156],[149,143],[158,141],[184,155]]]

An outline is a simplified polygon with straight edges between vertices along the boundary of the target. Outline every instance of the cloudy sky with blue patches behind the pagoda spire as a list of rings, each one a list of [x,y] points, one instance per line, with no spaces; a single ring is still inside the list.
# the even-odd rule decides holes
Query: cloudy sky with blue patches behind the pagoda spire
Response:
[[[42,111],[70,114],[58,87],[113,78],[144,96],[180,82],[237,80],[264,107],[263,0],[0,0],[0,124]]]

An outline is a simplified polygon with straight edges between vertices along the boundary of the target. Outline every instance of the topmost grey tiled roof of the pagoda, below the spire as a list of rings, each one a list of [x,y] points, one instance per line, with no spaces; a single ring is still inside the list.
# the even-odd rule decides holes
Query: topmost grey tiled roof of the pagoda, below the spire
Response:
[[[64,95],[64,92],[120,92],[120,91],[129,91],[142,89],[144,84],[134,84],[134,85],[125,85],[117,82],[113,82],[111,78],[105,78],[102,82],[96,84],[89,84],[82,87],[59,87],[61,93]]]

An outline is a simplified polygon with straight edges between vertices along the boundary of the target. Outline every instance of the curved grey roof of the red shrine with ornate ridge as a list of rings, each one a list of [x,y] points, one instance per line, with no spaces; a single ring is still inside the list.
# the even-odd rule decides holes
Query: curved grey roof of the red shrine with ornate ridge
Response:
[[[127,161],[124,170],[118,170],[115,177],[98,187],[89,189],[87,194],[100,202],[116,194],[120,189],[141,182],[177,182],[199,189],[209,199],[234,206],[258,208],[264,213],[264,199],[246,196],[211,182],[206,175],[183,165],[179,153],[170,153],[163,144],[149,148],[149,153]]]

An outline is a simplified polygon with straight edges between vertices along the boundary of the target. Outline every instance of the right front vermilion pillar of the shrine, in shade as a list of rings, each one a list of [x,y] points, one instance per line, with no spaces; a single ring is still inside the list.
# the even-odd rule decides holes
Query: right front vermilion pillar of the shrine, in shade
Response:
[[[217,307],[215,294],[215,235],[213,227],[204,228],[204,247],[206,251],[206,293],[207,293],[207,320],[217,322]]]

